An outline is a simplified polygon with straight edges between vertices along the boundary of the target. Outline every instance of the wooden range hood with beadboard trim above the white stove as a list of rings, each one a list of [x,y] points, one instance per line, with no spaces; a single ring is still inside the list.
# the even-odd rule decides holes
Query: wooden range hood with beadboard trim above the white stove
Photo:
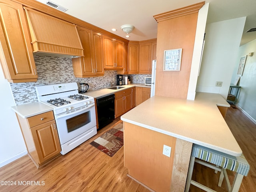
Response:
[[[36,55],[81,57],[83,47],[76,25],[24,7]]]

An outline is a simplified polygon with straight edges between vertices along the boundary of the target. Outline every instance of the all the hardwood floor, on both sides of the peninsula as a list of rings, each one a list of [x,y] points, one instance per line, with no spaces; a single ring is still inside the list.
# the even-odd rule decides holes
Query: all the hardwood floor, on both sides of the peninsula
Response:
[[[240,192],[256,191],[256,125],[238,109],[229,108],[226,122],[234,134],[250,164],[250,172],[244,177]],[[149,192],[126,174],[124,151],[121,148],[112,158],[89,143],[112,128],[118,120],[106,126],[98,134],[68,154],[37,169],[28,156],[24,156],[0,168],[0,181],[16,181],[14,186],[0,186],[0,192]],[[228,172],[230,178],[233,172]],[[218,188],[218,174],[210,168],[195,164],[193,179],[218,192],[227,192],[225,183]],[[196,178],[195,178],[196,177]],[[44,181],[44,185],[18,185],[18,181]],[[24,184],[25,184],[24,182]],[[202,192],[190,187],[190,192]]]

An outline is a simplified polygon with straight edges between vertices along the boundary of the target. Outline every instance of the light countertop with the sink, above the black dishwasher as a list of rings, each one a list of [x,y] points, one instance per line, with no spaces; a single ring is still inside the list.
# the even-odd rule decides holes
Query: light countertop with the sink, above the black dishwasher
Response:
[[[118,91],[122,91],[122,90],[125,90],[125,89],[128,89],[128,88],[131,88],[131,87],[135,87],[135,86],[148,87],[148,88],[151,87],[151,86],[148,86],[148,85],[144,85],[142,83],[132,83],[132,84],[128,84],[128,85],[120,85],[120,87],[124,87],[124,88],[121,88],[121,89],[103,88],[103,89],[92,90],[92,91],[86,92],[86,93],[84,93],[84,95],[91,96],[91,97],[94,97],[94,98],[98,98],[98,97],[102,97],[102,96],[112,94],[112,93],[115,93],[115,92],[118,92]]]

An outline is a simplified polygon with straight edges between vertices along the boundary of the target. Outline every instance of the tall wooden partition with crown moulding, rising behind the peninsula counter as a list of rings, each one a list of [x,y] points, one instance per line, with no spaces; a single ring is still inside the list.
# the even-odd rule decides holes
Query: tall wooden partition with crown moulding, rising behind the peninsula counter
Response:
[[[186,99],[198,11],[204,2],[155,15],[158,22],[155,95]],[[180,71],[164,71],[164,50],[182,48]]]

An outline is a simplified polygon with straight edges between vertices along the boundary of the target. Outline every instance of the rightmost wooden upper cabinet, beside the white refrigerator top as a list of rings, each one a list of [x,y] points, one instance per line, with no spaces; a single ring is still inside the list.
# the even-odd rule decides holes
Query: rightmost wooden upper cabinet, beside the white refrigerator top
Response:
[[[156,41],[140,42],[139,74],[152,73],[152,60],[156,60]]]

